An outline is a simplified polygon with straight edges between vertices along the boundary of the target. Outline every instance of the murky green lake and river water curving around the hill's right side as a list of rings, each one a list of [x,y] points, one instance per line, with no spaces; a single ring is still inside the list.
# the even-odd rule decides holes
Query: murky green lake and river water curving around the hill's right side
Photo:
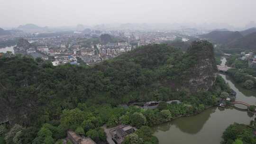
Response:
[[[237,92],[237,100],[256,104],[256,92],[245,90],[228,76],[220,75]],[[222,133],[229,125],[234,122],[249,124],[251,120],[252,114],[246,110],[214,107],[196,116],[180,117],[155,126],[154,135],[159,139],[159,144],[220,144]]]

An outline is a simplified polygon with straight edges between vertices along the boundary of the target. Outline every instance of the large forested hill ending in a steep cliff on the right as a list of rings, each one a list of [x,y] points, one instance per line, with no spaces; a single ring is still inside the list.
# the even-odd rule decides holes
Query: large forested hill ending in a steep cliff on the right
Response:
[[[63,109],[82,102],[117,106],[129,101],[182,99],[178,93],[189,94],[190,88],[191,92],[211,89],[216,78],[212,57],[213,48],[207,41],[194,42],[185,54],[168,45],[142,46],[94,67],[54,67],[29,57],[2,56],[0,121],[38,125],[58,119]]]

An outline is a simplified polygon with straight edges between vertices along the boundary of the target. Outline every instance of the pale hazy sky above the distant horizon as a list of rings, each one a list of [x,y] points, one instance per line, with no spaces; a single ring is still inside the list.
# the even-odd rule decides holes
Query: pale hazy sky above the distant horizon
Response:
[[[0,0],[0,27],[249,21],[256,21],[256,0]]]

